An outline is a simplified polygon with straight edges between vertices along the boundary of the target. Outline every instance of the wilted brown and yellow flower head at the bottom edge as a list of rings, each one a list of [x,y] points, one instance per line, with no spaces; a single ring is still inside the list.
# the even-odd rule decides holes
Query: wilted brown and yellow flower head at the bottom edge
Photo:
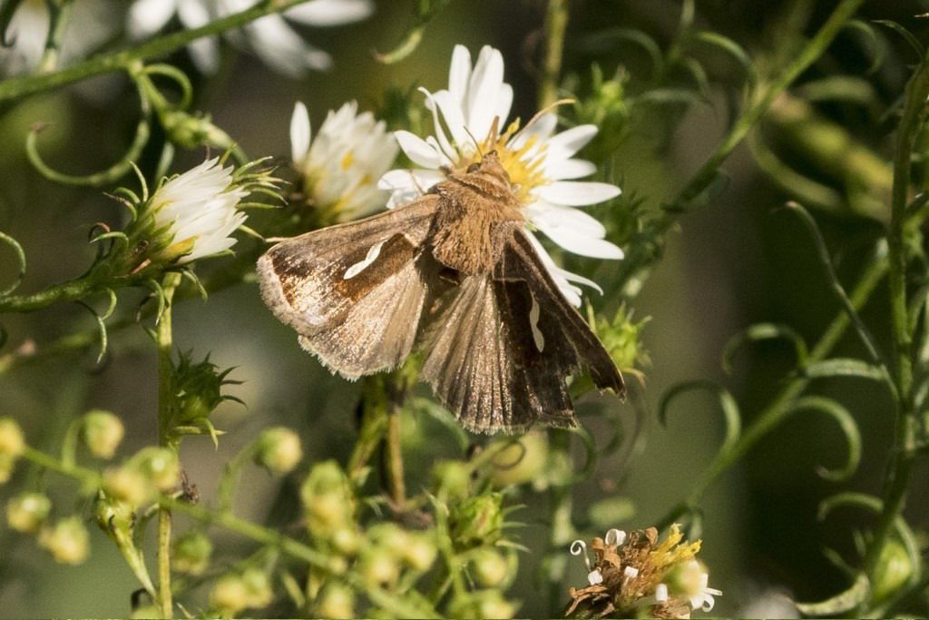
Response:
[[[683,537],[676,523],[661,542],[653,527],[628,536],[613,529],[592,541],[593,562],[584,542],[575,540],[570,550],[583,554],[588,586],[569,589],[572,601],[565,615],[689,618],[695,610],[712,611],[722,592],[708,587],[708,574],[695,559],[700,541],[682,543]]]

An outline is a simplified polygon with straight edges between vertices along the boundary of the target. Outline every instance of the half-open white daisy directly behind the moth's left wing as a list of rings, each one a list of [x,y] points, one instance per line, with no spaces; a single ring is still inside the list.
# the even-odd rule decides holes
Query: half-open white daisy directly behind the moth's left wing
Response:
[[[307,107],[298,101],[290,134],[308,203],[339,221],[362,218],[385,204],[386,191],[378,189],[377,179],[393,165],[399,147],[384,121],[371,112],[359,114],[358,103],[349,101],[330,111],[311,139]]]

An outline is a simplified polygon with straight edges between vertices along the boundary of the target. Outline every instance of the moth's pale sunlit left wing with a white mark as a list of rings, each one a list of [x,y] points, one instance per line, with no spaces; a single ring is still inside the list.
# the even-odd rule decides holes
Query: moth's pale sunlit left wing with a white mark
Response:
[[[398,365],[415,342],[438,197],[311,231],[258,260],[261,294],[304,349],[347,378]]]

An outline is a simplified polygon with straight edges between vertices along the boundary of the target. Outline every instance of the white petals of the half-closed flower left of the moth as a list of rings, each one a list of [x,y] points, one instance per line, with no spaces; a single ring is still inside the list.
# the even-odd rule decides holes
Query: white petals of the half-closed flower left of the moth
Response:
[[[147,207],[156,230],[171,239],[160,255],[183,264],[228,250],[236,243],[230,235],[245,221],[236,206],[247,194],[233,183],[232,166],[222,167],[217,157],[168,178]]]

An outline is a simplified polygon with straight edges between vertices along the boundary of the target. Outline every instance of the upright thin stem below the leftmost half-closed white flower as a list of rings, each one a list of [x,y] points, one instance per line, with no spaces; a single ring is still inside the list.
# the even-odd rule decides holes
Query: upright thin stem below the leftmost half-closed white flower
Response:
[[[172,438],[171,429],[174,401],[171,389],[171,377],[174,373],[174,364],[171,362],[171,303],[180,278],[180,273],[168,273],[164,276],[164,312],[158,319],[155,331],[155,345],[158,349],[158,444],[175,452],[177,442]],[[158,606],[164,618],[174,615],[174,604],[171,600],[171,510],[164,504],[158,508]]]

